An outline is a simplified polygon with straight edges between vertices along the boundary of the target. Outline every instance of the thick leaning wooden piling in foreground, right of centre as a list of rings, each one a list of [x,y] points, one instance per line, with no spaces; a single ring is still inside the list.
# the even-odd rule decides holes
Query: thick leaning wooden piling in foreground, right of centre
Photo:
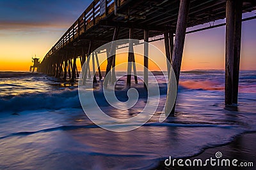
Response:
[[[172,67],[173,71],[176,76],[177,80],[177,87],[179,85],[179,78],[180,78],[180,67],[182,61],[182,54],[184,50],[184,43],[185,43],[185,36],[186,36],[186,28],[188,22],[188,13],[189,13],[189,4],[190,0],[180,0],[180,7],[179,7],[179,16],[177,20],[177,29],[175,34],[175,43],[173,47],[173,55],[172,55]],[[168,83],[168,91],[167,91],[167,98],[166,98],[166,106],[165,106],[165,113],[174,114],[175,106],[172,108],[172,80],[169,78]]]

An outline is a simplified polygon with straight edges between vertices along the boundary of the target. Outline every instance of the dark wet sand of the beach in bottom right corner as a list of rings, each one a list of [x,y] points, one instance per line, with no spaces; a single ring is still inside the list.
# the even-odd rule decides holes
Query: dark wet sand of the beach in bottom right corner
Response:
[[[205,160],[210,159],[212,157],[212,159],[216,159],[216,153],[217,152],[221,152],[222,153],[222,157],[221,159],[230,159],[230,160],[234,160],[237,159],[237,167],[234,166],[211,166],[208,164],[208,166],[205,167],[198,167],[198,166],[191,166],[191,167],[180,167],[177,165],[177,160],[176,160],[176,164],[175,166],[165,166],[164,165],[164,160],[162,160],[161,162],[159,162],[159,165],[155,168],[153,168],[154,170],[158,170],[158,169],[255,169],[256,166],[256,132],[244,132],[242,134],[239,134],[237,136],[234,137],[234,139],[232,141],[230,141],[230,143],[226,143],[220,146],[216,146],[216,147],[211,147],[211,148],[205,148],[202,152],[198,153],[197,155],[194,155],[192,157],[184,157],[182,158],[183,160],[183,164],[184,161],[186,159],[190,159],[192,162],[195,159],[202,159],[203,162],[205,162]],[[173,158],[175,159],[175,158]],[[172,160],[173,160],[172,159]],[[230,161],[231,162],[231,161]],[[240,163],[241,162],[252,162],[253,163],[253,167],[241,167]],[[242,163],[242,164],[243,164]]]

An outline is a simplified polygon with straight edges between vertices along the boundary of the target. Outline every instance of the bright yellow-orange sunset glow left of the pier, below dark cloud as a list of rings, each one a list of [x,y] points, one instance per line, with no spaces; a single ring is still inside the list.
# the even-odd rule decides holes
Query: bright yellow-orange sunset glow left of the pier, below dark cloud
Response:
[[[0,30],[0,71],[29,71],[31,58],[44,59],[56,39],[49,32]],[[59,35],[59,34],[58,34]]]

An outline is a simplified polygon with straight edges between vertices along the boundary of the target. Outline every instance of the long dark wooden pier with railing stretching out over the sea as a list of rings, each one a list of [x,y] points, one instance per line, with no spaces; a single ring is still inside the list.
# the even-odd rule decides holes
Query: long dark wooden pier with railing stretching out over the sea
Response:
[[[70,81],[74,82],[78,76],[77,58],[83,65],[86,57],[99,46],[128,38],[148,42],[148,38],[164,34],[166,57],[172,61],[179,83],[186,28],[227,18],[225,104],[236,104],[242,13],[256,10],[255,6],[254,0],[94,0],[45,55],[39,71],[56,77],[63,76],[64,79],[69,76]],[[225,24],[212,27],[221,25]],[[145,53],[148,52],[147,48],[145,46]],[[127,58],[133,61],[132,54]],[[144,64],[148,67],[147,57],[144,57]],[[112,66],[115,66],[115,57],[108,59],[106,73]],[[147,71],[144,76],[147,83]],[[97,80],[94,78],[94,81]],[[131,86],[131,76],[127,76],[127,85]],[[167,108],[169,100],[167,98]]]

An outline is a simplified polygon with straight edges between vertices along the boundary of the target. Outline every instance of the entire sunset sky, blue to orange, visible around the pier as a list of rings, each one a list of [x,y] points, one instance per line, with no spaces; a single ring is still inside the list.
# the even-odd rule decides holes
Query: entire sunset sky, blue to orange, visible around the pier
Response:
[[[28,71],[31,57],[36,55],[42,60],[90,3],[91,0],[0,0],[0,71]],[[255,11],[244,15],[250,16],[255,16]],[[198,27],[205,26],[209,24]],[[243,70],[255,69],[255,27],[256,20],[243,22]],[[192,29],[195,28],[188,30]],[[163,41],[152,44],[164,52]],[[182,70],[192,69],[225,69],[225,27],[186,35]]]

